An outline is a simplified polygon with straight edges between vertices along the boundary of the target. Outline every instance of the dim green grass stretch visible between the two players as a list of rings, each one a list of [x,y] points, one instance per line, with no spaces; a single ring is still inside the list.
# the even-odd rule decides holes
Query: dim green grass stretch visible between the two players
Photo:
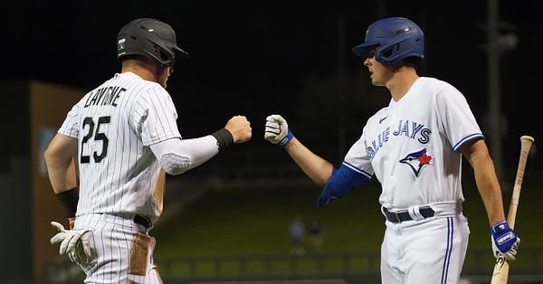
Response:
[[[304,222],[316,219],[322,223],[322,251],[376,247],[373,240],[382,237],[384,219],[375,188],[357,189],[323,208],[316,207],[318,194],[316,185],[207,193],[152,232],[157,237],[155,255],[289,253],[289,223],[296,215]],[[370,238],[361,237],[364,235]]]

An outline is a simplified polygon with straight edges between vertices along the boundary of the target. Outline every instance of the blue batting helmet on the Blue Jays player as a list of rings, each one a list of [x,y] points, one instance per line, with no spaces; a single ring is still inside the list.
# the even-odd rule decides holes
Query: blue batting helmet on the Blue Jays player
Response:
[[[364,43],[353,47],[352,52],[360,57],[368,57],[373,47],[376,47],[376,61],[385,65],[412,56],[423,59],[424,33],[408,19],[384,18],[367,27]]]

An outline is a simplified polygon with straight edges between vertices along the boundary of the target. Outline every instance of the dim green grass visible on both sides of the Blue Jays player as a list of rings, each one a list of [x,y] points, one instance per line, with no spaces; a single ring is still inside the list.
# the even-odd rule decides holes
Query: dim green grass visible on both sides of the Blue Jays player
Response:
[[[464,214],[471,227],[469,250],[488,248],[490,255],[489,223],[471,176],[471,172],[464,174],[462,184]],[[519,253],[522,247],[541,246],[543,229],[537,221],[543,201],[538,185],[542,184],[542,177],[536,172],[524,176],[515,223],[521,238]],[[512,183],[503,185],[503,189],[507,211]],[[208,192],[151,232],[157,238],[155,257],[288,254],[288,226],[296,215],[305,222],[316,219],[322,223],[324,242],[319,252],[378,251],[385,219],[379,212],[380,187],[376,180],[323,208],[316,207],[319,191],[317,185],[308,185]],[[306,246],[311,252],[309,243]]]

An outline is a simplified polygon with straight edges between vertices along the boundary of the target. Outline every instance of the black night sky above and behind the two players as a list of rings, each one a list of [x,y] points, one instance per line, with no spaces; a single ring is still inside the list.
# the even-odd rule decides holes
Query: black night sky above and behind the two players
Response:
[[[51,3],[49,3],[51,2]],[[537,1],[501,0],[500,20],[512,24],[519,42],[501,57],[500,86],[508,137],[541,134],[533,103],[538,99],[543,22]],[[331,76],[338,66],[338,17],[344,21],[347,71],[363,68],[350,47],[362,43],[368,24],[383,16],[405,16],[426,36],[423,75],[451,82],[481,116],[487,109],[487,1],[40,1],[14,3],[1,12],[4,80],[45,80],[91,89],[119,71],[116,36],[137,17],[171,24],[177,43],[191,54],[176,64],[169,89],[181,117],[200,116],[205,128],[231,115],[252,119],[255,137],[262,120],[283,110],[310,75]],[[306,5],[303,5],[305,3]],[[319,3],[319,4],[318,4]],[[438,4],[436,4],[438,3]],[[365,74],[365,73],[362,73]],[[359,80],[368,80],[366,76]],[[536,84],[534,84],[536,82]],[[201,118],[209,109],[219,118]],[[376,109],[375,109],[376,110]],[[362,125],[360,125],[362,128]],[[194,129],[187,129],[193,131]],[[256,132],[258,131],[258,132]],[[516,154],[515,154],[516,155]]]

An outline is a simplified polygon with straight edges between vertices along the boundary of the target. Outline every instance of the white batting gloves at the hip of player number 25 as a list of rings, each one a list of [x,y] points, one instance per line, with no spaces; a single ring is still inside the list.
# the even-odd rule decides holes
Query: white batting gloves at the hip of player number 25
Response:
[[[90,249],[91,229],[66,230],[59,222],[51,222],[51,225],[59,230],[51,238],[51,243],[61,243],[59,254],[67,253],[71,262],[89,266],[94,260],[94,253]]]

